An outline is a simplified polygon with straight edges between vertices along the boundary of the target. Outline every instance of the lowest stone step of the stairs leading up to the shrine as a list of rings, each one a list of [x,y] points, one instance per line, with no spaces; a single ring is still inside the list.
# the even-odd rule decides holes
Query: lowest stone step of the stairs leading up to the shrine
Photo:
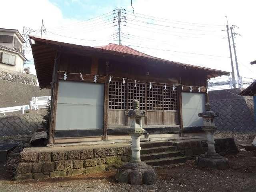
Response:
[[[178,164],[186,162],[186,157],[177,156],[177,157],[168,157],[168,158],[161,158],[161,159],[154,159],[154,160],[147,160],[143,161],[144,163],[152,166],[165,166],[171,164]]]

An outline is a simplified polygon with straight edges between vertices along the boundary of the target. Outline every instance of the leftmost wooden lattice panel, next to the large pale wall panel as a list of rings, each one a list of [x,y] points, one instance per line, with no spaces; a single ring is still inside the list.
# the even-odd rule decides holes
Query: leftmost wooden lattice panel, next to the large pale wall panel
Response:
[[[108,108],[126,109],[126,85],[123,85],[122,82],[110,82],[108,90]]]

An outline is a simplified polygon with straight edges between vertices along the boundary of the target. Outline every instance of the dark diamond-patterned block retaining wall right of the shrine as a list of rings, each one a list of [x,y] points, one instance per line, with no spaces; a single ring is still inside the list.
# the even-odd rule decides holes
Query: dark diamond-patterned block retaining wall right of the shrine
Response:
[[[220,132],[256,132],[254,104],[250,96],[239,96],[240,89],[209,91],[209,100],[214,112],[215,125]]]

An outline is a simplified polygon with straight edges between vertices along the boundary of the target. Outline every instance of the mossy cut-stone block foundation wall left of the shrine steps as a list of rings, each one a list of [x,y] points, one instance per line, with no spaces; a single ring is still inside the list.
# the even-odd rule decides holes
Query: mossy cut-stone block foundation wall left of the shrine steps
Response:
[[[22,152],[15,179],[44,179],[115,170],[128,162],[130,154],[130,147]]]

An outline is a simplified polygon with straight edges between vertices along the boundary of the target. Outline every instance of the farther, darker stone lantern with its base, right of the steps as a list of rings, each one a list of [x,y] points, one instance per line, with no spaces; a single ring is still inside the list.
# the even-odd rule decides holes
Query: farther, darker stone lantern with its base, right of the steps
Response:
[[[219,113],[211,110],[210,104],[205,104],[205,111],[198,114],[199,117],[204,118],[204,126],[202,130],[206,133],[208,150],[205,154],[196,157],[196,165],[200,167],[228,169],[228,159],[220,156],[215,151],[214,132],[217,127],[214,123],[214,118],[219,116]]]

